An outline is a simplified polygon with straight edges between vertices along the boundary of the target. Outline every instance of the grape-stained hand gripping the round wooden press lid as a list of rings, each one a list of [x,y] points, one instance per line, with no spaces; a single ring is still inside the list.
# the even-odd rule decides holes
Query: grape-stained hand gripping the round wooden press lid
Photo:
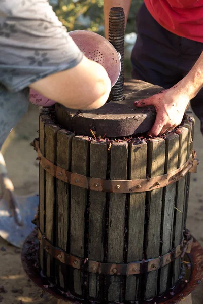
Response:
[[[178,126],[185,113],[190,98],[186,91],[180,91],[175,86],[171,89],[161,91],[147,99],[134,102],[136,107],[153,105],[156,109],[156,121],[149,131],[152,136],[163,134]]]

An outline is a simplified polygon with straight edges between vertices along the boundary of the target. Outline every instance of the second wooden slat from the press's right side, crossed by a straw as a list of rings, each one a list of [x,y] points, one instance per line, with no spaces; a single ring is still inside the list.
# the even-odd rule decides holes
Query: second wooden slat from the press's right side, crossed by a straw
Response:
[[[181,127],[179,134],[179,153],[178,153],[178,168],[180,168],[187,159],[187,139],[188,129]],[[177,183],[177,196],[176,196],[176,208],[175,209],[175,232],[174,232],[174,247],[177,247],[183,236],[183,210],[184,210],[184,192],[185,192],[185,178],[182,178]],[[182,213],[181,213],[182,212]],[[172,278],[172,286],[176,284],[180,275],[181,258],[178,257],[174,264],[174,276]]]

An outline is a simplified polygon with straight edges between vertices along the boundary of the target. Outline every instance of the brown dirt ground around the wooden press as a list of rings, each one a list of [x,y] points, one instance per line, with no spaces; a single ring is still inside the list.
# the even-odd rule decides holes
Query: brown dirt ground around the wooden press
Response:
[[[36,152],[29,146],[33,138],[38,137],[38,108],[30,105],[27,115],[11,132],[3,146],[9,175],[19,195],[38,193],[38,163]],[[203,137],[196,120],[194,148],[202,163],[198,173],[191,176],[190,204],[187,227],[203,246]],[[0,302],[3,304],[35,303],[56,304],[56,300],[44,295],[33,285],[24,273],[20,250],[0,238]],[[2,292],[1,286],[7,290]],[[203,285],[193,292],[193,304],[203,304]]]

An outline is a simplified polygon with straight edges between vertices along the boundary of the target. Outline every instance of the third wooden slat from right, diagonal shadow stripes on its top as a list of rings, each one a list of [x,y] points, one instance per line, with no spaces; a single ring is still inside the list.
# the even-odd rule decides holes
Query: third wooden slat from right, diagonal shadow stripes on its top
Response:
[[[179,136],[177,134],[168,134],[165,137],[166,153],[165,153],[165,174],[170,173],[178,168],[178,151]],[[168,185],[163,189],[162,202],[162,223],[161,236],[162,248],[160,255],[165,255],[172,250],[173,247],[173,224],[174,210],[176,201],[176,183]],[[171,265],[168,264],[160,269],[160,285],[159,293],[163,294],[170,287],[170,271]]]

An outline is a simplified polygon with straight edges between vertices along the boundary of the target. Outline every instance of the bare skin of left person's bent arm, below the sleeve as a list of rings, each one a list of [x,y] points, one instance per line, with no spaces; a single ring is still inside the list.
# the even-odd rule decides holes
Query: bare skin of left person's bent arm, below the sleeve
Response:
[[[111,81],[103,66],[83,57],[77,66],[51,74],[29,87],[65,107],[92,110],[107,101]]]

